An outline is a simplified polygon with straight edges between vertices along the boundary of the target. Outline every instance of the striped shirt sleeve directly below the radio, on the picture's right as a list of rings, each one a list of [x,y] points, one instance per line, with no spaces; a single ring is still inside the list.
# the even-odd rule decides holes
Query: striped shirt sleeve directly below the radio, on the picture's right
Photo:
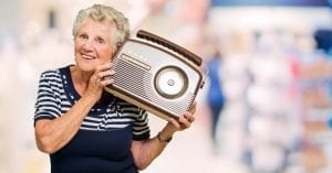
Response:
[[[149,139],[148,113],[138,108],[138,115],[133,123],[133,140],[143,141]]]

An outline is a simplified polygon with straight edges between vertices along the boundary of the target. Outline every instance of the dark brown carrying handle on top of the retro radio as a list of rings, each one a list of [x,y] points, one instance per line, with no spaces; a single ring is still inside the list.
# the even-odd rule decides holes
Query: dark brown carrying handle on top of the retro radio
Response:
[[[189,61],[194,62],[198,66],[201,65],[201,58],[199,56],[195,55],[194,53],[189,52],[188,50],[175,43],[172,43],[170,41],[167,41],[158,35],[155,35],[144,30],[138,30],[136,35],[137,37],[145,39],[147,41],[152,41],[163,46],[166,46],[167,48],[184,55],[185,57],[187,57]]]

